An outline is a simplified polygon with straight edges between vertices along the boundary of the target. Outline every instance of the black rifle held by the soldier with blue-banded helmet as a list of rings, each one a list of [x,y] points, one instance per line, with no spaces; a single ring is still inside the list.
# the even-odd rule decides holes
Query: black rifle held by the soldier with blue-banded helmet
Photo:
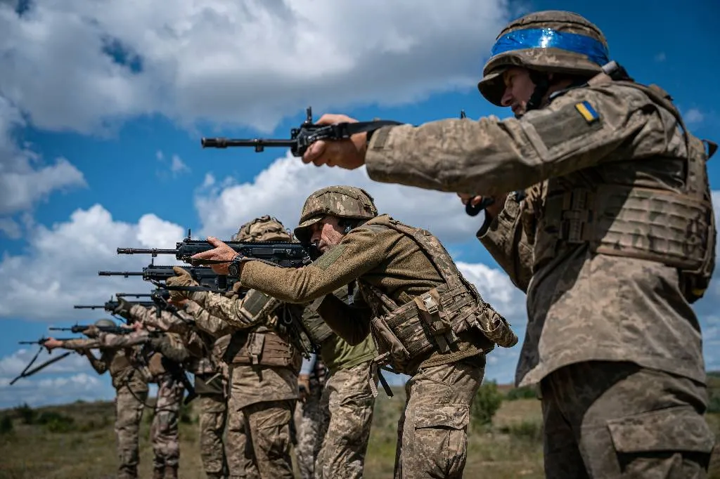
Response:
[[[312,108],[305,110],[305,122],[299,128],[290,129],[290,137],[287,140],[275,140],[269,138],[253,138],[252,140],[237,140],[228,138],[202,138],[200,145],[203,148],[227,148],[227,147],[253,147],[256,152],[265,150],[266,147],[289,148],[293,156],[300,157],[305,154],[307,148],[318,140],[343,140],[356,133],[374,132],[376,129],[397,126],[401,122],[390,120],[376,120],[374,122],[357,123],[334,123],[315,124],[312,122]]]

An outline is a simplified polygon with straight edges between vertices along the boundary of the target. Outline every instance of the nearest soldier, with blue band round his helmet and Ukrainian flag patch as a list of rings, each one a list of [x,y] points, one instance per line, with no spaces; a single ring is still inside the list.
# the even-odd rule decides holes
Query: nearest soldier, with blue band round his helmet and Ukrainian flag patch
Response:
[[[690,304],[715,264],[716,145],[608,62],[577,14],[511,22],[483,73],[482,96],[516,118],[386,127],[305,160],[495,196],[480,237],[528,293],[516,383],[539,383],[548,477],[704,477],[714,439]]]

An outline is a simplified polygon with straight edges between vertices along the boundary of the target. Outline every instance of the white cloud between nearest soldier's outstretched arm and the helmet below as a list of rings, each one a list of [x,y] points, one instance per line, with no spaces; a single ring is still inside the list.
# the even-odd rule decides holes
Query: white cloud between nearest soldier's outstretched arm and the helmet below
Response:
[[[275,216],[292,229],[307,196],[332,185],[365,188],[381,214],[426,228],[445,242],[472,239],[482,222],[482,215],[471,218],[465,214],[454,193],[377,183],[369,179],[364,168],[312,168],[288,153],[249,183],[238,184],[226,178],[218,185],[212,175],[206,175],[195,199],[202,221],[200,235],[230,237],[240,224],[264,214]]]

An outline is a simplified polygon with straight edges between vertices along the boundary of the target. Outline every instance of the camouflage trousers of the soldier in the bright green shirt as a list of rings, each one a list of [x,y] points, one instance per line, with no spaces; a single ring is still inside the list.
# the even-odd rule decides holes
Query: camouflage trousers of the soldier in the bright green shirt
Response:
[[[363,477],[375,405],[369,373],[368,361],[338,370],[326,380],[320,399],[322,442],[315,461],[316,478]]]

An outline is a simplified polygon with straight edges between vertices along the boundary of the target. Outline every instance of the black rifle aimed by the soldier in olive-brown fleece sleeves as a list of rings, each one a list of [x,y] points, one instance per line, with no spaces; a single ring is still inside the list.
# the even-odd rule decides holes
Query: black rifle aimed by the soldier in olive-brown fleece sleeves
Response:
[[[245,257],[253,257],[258,260],[265,260],[275,263],[283,268],[301,268],[309,265],[319,254],[315,247],[307,250],[300,243],[287,243],[280,241],[266,242],[241,242],[228,241],[226,244]],[[191,239],[188,229],[187,237],[176,243],[175,249],[163,250],[160,248],[117,248],[118,255],[175,255],[177,260],[184,261],[190,265],[202,263],[202,260],[192,260],[193,255],[199,252],[210,251],[215,247],[204,239]]]

